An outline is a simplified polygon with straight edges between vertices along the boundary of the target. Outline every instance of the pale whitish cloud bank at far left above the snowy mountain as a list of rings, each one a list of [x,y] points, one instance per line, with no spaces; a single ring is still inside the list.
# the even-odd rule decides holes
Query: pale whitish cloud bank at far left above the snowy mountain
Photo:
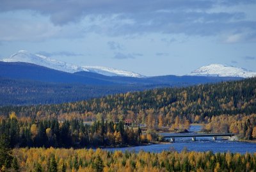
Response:
[[[5,18],[6,15],[12,15]],[[81,38],[84,28],[79,25],[55,26],[49,17],[31,16],[29,12],[12,12],[0,15],[0,41],[42,41],[56,38]]]

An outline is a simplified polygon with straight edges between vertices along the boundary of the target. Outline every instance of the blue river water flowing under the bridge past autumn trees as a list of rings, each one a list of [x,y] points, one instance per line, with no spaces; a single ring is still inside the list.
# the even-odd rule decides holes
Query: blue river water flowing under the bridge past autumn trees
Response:
[[[190,132],[195,132],[200,130],[200,126],[191,126]],[[181,152],[182,150],[196,151],[196,152],[232,152],[232,153],[256,153],[256,143],[246,143],[238,141],[228,141],[218,137],[216,141],[212,140],[212,137],[196,137],[196,141],[191,141],[191,138],[180,138],[175,139],[175,143],[166,143],[159,145],[147,145],[147,146],[135,146],[128,148],[105,148],[105,150],[115,151],[121,150],[125,152],[128,150],[130,152],[140,152],[141,150],[145,152],[159,153],[164,150],[176,150]]]

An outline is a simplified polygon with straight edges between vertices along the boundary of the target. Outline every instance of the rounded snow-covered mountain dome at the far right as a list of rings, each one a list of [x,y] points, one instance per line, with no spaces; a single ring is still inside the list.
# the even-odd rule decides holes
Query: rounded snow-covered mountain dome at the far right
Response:
[[[256,72],[252,72],[244,68],[238,68],[235,66],[211,64],[208,66],[202,66],[194,70],[188,75],[246,78],[246,77],[255,77]]]

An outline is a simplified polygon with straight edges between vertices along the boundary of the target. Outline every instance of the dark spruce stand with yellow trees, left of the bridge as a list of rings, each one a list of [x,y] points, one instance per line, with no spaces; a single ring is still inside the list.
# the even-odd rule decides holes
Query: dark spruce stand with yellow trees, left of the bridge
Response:
[[[154,138],[149,133],[144,136],[140,128],[134,130],[125,127],[122,121],[114,123],[101,120],[92,125],[84,124],[82,120],[18,121],[15,114],[1,120],[2,135],[10,139],[11,148],[127,146],[141,145]]]

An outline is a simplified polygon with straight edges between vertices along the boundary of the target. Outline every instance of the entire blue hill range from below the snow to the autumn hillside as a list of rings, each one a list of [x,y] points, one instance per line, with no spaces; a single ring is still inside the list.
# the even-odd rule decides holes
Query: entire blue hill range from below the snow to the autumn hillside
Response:
[[[127,91],[230,81],[239,77],[122,77],[68,73],[24,62],[0,61],[0,106],[74,102]]]

